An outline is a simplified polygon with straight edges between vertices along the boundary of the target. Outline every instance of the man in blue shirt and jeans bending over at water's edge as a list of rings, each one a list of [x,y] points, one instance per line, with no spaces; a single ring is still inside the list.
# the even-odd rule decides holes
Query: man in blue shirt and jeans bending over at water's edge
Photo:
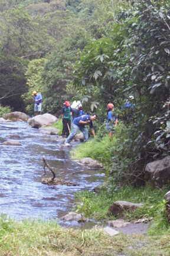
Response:
[[[96,114],[90,116],[89,114],[84,114],[83,116],[76,117],[72,123],[72,130],[70,135],[67,137],[66,142],[64,143],[65,146],[70,146],[71,140],[74,138],[79,130],[83,133],[84,141],[86,142],[89,139],[89,132],[86,128],[86,125],[90,126],[90,129],[93,129],[93,121],[96,120]]]

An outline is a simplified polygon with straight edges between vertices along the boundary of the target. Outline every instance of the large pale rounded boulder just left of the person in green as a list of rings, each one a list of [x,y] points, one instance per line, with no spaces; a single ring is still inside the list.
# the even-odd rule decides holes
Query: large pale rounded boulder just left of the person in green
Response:
[[[31,119],[28,119],[28,124],[32,128],[40,128],[42,126],[50,126],[51,124],[55,123],[57,121],[57,117],[53,116],[52,114],[42,114],[35,117],[32,117]]]

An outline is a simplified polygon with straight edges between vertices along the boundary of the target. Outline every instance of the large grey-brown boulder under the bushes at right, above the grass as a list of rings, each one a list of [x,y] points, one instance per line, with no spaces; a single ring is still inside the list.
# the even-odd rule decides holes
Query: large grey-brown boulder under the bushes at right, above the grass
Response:
[[[150,162],[145,168],[145,180],[162,187],[170,182],[170,156]]]

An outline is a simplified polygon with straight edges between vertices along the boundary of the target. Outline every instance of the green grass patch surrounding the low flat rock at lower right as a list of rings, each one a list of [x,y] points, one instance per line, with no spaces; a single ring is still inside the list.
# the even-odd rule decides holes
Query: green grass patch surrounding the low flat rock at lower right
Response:
[[[77,212],[83,212],[86,217],[95,219],[108,219],[114,216],[108,216],[108,209],[114,201],[124,200],[133,203],[143,203],[143,207],[135,212],[126,212],[125,219],[133,220],[141,217],[156,217],[164,206],[164,196],[168,188],[160,190],[159,188],[146,187],[122,187],[112,191],[103,189],[99,194],[83,191],[77,193]],[[163,202],[163,203],[162,203]]]

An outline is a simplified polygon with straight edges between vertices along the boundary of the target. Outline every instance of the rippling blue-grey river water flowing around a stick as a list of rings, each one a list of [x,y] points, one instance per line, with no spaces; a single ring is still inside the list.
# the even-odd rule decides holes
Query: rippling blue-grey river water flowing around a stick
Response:
[[[91,190],[104,180],[103,170],[71,161],[70,148],[57,136],[44,135],[24,122],[1,123],[0,130],[0,213],[17,220],[56,219],[73,209],[74,193]],[[21,146],[2,145],[16,135]],[[42,184],[42,156],[57,177],[79,186]]]

